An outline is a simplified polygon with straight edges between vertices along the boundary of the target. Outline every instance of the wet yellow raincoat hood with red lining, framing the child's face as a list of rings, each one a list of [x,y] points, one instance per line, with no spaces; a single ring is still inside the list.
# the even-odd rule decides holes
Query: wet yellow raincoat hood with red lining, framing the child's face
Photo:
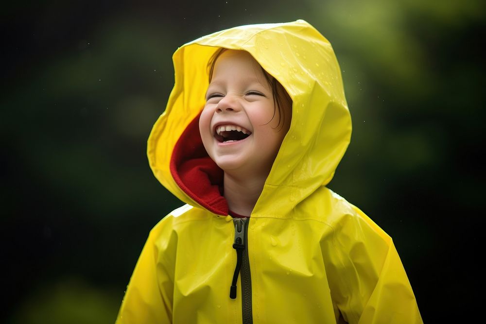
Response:
[[[178,169],[188,159],[211,163],[197,119],[206,103],[208,62],[219,48],[249,52],[292,98],[290,130],[252,212],[252,217],[288,217],[285,215],[295,205],[330,182],[351,136],[351,119],[332,47],[304,20],[235,27],[198,38],[175,51],[174,89],[148,140],[150,167],[180,200],[227,215],[224,198],[204,197],[204,182],[191,188]],[[208,188],[214,185],[214,178],[221,178],[213,168],[197,171],[209,173]],[[268,201],[274,203],[263,203]]]

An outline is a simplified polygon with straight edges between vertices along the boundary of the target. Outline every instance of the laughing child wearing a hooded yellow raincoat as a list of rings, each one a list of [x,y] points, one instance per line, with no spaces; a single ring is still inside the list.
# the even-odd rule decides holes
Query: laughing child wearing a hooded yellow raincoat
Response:
[[[174,68],[148,157],[187,205],[151,231],[117,323],[422,323],[392,239],[325,187],[351,134],[330,43],[242,26]]]

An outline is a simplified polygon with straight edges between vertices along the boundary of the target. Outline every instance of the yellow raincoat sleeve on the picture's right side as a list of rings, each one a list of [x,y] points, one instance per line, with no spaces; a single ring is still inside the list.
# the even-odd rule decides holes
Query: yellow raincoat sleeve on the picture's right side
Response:
[[[336,229],[341,251],[333,299],[352,324],[423,323],[392,239],[361,210]]]

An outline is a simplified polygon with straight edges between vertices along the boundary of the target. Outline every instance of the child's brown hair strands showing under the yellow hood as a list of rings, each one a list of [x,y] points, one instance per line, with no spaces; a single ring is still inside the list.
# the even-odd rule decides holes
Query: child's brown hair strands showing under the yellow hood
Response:
[[[216,65],[216,60],[218,57],[227,49],[220,48],[217,51],[214,52],[214,54],[211,56],[211,58],[208,61],[208,76],[209,76],[209,83],[211,82],[213,72],[214,72],[214,66]],[[263,72],[263,75],[265,76],[265,79],[268,82],[268,85],[272,87],[272,95],[273,99],[275,102],[275,105],[278,107],[278,125],[277,127],[280,126],[279,131],[283,128],[284,126],[284,121],[285,121],[285,109],[284,104],[290,105],[292,108],[292,98],[290,98],[289,94],[285,90],[285,88],[280,84],[280,82],[277,81],[276,78],[274,78],[270,73],[265,71],[264,68],[261,68],[261,71]],[[275,118],[275,114],[277,112],[277,107],[274,106],[274,114],[272,116],[272,119],[270,119],[268,122],[272,121]],[[291,111],[292,113],[292,111]]]

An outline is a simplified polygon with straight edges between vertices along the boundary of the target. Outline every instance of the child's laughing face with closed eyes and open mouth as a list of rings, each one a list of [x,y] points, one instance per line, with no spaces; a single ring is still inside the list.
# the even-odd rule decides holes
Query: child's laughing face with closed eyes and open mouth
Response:
[[[272,168],[288,120],[278,125],[272,87],[260,65],[245,51],[224,51],[217,59],[199,119],[209,156],[225,172],[266,176]],[[275,116],[274,116],[275,114]]]

